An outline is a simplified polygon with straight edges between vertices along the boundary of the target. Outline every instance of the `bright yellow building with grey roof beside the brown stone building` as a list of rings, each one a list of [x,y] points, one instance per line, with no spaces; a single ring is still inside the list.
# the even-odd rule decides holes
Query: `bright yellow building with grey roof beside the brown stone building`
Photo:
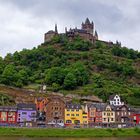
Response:
[[[65,125],[87,125],[88,115],[80,104],[67,104],[65,108]]]

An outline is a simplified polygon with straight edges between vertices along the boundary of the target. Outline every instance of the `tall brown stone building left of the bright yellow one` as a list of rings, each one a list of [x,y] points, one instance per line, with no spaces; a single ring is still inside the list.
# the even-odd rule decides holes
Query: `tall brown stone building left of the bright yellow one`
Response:
[[[52,96],[46,105],[46,124],[64,125],[65,102],[62,97]]]

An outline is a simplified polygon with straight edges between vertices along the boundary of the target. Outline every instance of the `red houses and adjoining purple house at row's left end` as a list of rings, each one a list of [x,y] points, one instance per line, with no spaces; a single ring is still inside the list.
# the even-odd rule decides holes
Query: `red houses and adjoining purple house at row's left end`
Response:
[[[18,104],[0,107],[0,125],[33,126],[36,122],[35,104]]]

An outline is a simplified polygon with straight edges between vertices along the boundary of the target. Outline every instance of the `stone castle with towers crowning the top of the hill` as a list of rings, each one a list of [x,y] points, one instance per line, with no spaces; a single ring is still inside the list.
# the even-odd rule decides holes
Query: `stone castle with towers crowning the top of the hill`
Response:
[[[57,25],[55,25],[55,31],[50,30],[47,33],[45,33],[44,41],[48,42],[50,41],[54,36],[61,35],[62,33],[58,33]],[[75,38],[76,36],[80,36],[84,40],[88,40],[90,42],[94,42],[95,40],[98,40],[98,33],[94,28],[93,21],[90,22],[90,20],[87,18],[85,22],[82,22],[81,29],[78,29],[77,27],[74,29],[67,30],[67,27],[65,28],[64,33],[70,40]]]

